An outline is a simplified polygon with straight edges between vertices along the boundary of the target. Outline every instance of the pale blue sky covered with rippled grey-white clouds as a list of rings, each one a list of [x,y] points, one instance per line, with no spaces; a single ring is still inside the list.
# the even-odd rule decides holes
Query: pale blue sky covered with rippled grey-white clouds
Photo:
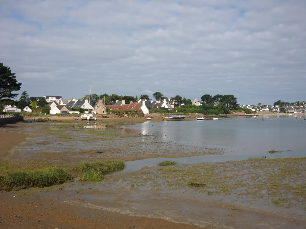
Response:
[[[306,100],[305,0],[0,2],[20,94]]]

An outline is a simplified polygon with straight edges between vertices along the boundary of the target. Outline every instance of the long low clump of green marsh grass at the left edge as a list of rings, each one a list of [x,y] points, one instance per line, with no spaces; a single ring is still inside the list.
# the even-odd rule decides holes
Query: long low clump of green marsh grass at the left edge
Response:
[[[62,167],[36,170],[32,172],[15,172],[1,176],[1,187],[49,187],[55,184],[63,184],[72,180],[69,172]]]

